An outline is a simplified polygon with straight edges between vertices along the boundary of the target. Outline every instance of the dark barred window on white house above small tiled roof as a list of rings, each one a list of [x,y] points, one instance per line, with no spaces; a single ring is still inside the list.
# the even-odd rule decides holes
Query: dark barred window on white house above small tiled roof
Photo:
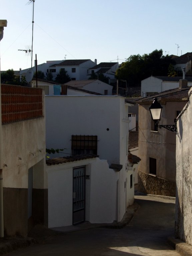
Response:
[[[72,135],[72,155],[91,154],[97,155],[97,136],[95,135]]]

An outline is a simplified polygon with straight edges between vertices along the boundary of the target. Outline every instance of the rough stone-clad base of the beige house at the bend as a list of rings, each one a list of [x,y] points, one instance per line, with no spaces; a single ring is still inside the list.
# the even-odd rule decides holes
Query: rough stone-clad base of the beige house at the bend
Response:
[[[152,195],[175,196],[175,182],[138,170],[138,191]]]

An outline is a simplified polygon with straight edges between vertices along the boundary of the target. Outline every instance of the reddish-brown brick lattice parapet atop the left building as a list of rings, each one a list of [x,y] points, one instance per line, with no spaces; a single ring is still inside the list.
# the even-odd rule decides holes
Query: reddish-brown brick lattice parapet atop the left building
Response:
[[[2,124],[43,116],[42,89],[1,85]]]

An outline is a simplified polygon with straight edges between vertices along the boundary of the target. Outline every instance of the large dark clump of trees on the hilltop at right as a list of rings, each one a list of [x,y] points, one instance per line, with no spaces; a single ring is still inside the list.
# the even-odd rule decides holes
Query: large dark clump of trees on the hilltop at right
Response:
[[[127,81],[128,86],[140,86],[141,80],[153,76],[167,76],[169,64],[174,60],[163,55],[163,50],[149,54],[131,55],[116,71],[116,78]]]

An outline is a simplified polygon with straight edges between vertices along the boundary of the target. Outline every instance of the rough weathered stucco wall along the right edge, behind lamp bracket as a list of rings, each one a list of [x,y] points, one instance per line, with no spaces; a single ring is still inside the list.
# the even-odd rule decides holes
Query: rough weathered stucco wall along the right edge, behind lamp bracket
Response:
[[[191,93],[190,89],[189,93]],[[176,139],[176,236],[192,245],[192,105],[177,122]]]

